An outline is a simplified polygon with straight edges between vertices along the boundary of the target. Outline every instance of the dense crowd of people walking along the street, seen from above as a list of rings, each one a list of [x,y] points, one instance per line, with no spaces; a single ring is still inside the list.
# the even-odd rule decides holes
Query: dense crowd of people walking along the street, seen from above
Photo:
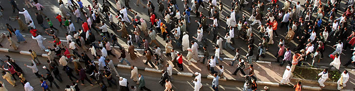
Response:
[[[260,57],[265,58],[269,47],[275,46],[273,45],[274,34],[275,37],[282,35],[277,34],[277,31],[286,31],[284,38],[278,40],[277,53],[272,55],[276,58],[276,62],[280,62],[280,66],[283,66],[285,62],[288,64],[281,80],[282,84],[289,83],[289,78],[292,72],[294,72],[295,67],[305,65],[304,62],[307,62],[307,60],[311,59],[312,66],[318,67],[317,63],[323,59],[325,45],[335,44],[335,51],[328,55],[328,57],[334,60],[330,63],[329,70],[331,67],[335,67],[341,72],[339,69],[341,65],[340,57],[344,54],[342,51],[347,51],[348,48],[352,51],[353,57],[346,64],[343,64],[343,66],[348,66],[352,63],[355,65],[355,48],[352,47],[355,44],[354,0],[348,0],[345,7],[340,5],[340,0],[327,0],[325,4],[322,4],[321,0],[306,0],[303,5],[301,5],[299,1],[293,0],[285,0],[284,3],[281,4],[278,3],[277,0],[232,0],[228,11],[226,11],[228,13],[227,15],[223,15],[223,5],[229,4],[222,3],[222,0],[182,0],[184,3],[183,6],[178,6],[177,0],[158,0],[158,3],[152,3],[151,0],[148,0],[146,5],[142,4],[140,0],[137,0],[136,5],[138,7],[142,5],[143,8],[147,9],[148,20],[141,18],[137,12],[134,12],[130,8],[128,4],[129,0],[124,0],[124,5],[121,5],[120,0],[116,0],[116,8],[110,7],[112,4],[107,0],[102,0],[102,6],[99,6],[97,0],[90,0],[89,2],[92,2],[91,5],[83,5],[80,0],[67,0],[68,2],[66,3],[59,0],[60,12],[54,17],[56,19],[54,22],[57,23],[58,20],[59,27],[63,26],[64,30],[55,28],[51,17],[43,13],[43,10],[46,8],[42,6],[38,0],[24,0],[28,8],[23,9],[19,9],[14,0],[9,1],[13,12],[15,13],[15,10],[17,10],[19,14],[24,15],[26,23],[24,23],[19,16],[9,17],[11,20],[17,20],[20,28],[13,28],[9,24],[6,24],[9,35],[2,34],[1,36],[7,36],[10,45],[17,50],[18,45],[16,45],[16,42],[12,39],[12,35],[16,35],[18,39],[17,43],[27,42],[22,37],[20,31],[30,31],[32,38],[37,41],[39,48],[47,52],[47,62],[49,65],[43,68],[46,69],[48,73],[45,76],[38,74],[37,65],[41,65],[41,63],[34,50],[29,50],[33,63],[31,63],[31,65],[25,64],[25,66],[31,68],[37,77],[43,78],[40,80],[41,87],[43,90],[48,91],[50,90],[46,80],[49,81],[50,87],[52,87],[52,83],[54,83],[56,87],[59,88],[54,80],[54,78],[56,78],[58,81],[62,81],[59,75],[59,66],[63,67],[62,70],[65,71],[70,80],[73,81],[71,86],[66,86],[66,91],[74,89],[79,91],[76,82],[81,81],[81,85],[85,85],[84,80],[88,81],[90,85],[98,83],[101,86],[101,90],[105,91],[107,86],[103,82],[103,78],[107,79],[109,87],[119,85],[120,90],[129,91],[130,88],[128,88],[127,79],[119,77],[113,61],[110,60],[117,59],[117,54],[113,52],[113,47],[111,46],[115,46],[115,44],[118,45],[121,53],[118,57],[118,59],[121,59],[119,62],[122,63],[125,61],[127,65],[131,65],[131,79],[139,84],[138,89],[150,91],[145,87],[144,78],[141,74],[138,74],[137,67],[127,61],[125,49],[118,43],[118,38],[120,37],[127,40],[126,44],[129,45],[128,54],[132,60],[137,59],[137,51],[135,51],[135,48],[138,47],[144,49],[143,55],[146,57],[145,64],[148,65],[149,63],[152,68],[163,69],[162,63],[164,60],[172,61],[172,64],[165,65],[167,70],[162,71],[163,77],[162,80],[159,81],[161,85],[165,84],[165,91],[171,91],[172,89],[172,83],[170,82],[173,80],[171,77],[172,68],[178,67],[179,71],[184,70],[182,59],[182,52],[184,51],[188,51],[186,55],[188,65],[192,65],[192,62],[197,63],[200,59],[202,59],[201,63],[204,64],[205,60],[207,60],[207,69],[210,71],[210,74],[214,76],[212,88],[218,91],[218,78],[224,77],[224,66],[217,64],[223,61],[221,55],[223,55],[223,49],[227,50],[226,48],[235,50],[236,55],[230,65],[233,66],[235,63],[237,64],[237,69],[233,75],[237,75],[237,72],[240,71],[246,79],[244,91],[256,91],[257,78],[254,73],[253,62],[258,61]],[[155,11],[155,5],[158,5],[158,12],[160,13]],[[205,7],[205,5],[207,6]],[[29,14],[29,11],[27,11],[31,8],[36,10],[36,21],[45,32],[39,32],[40,28],[36,28],[32,16]],[[302,10],[302,8],[304,9]],[[0,7],[0,9],[3,11],[2,7]],[[116,14],[110,13],[110,9],[116,9]],[[208,15],[200,9],[209,11],[207,12]],[[250,12],[249,18],[245,14],[242,14],[241,17],[239,16],[242,9]],[[340,12],[343,12],[343,14]],[[130,19],[128,13],[132,13],[134,16]],[[190,27],[191,24],[190,15],[193,14],[195,14],[197,18],[195,21],[198,24],[196,30],[197,34],[191,34],[190,32],[192,30],[187,30],[187,27]],[[313,15],[316,15],[316,17]],[[337,15],[341,16],[335,18]],[[0,13],[0,17],[1,16],[2,14]],[[75,22],[71,20],[72,16],[76,17]],[[47,21],[48,26],[43,25],[43,19]],[[117,19],[118,22],[114,22],[114,20],[116,21]],[[220,23],[222,20],[226,21],[227,26],[225,28],[221,27]],[[147,21],[149,22],[147,23]],[[80,23],[82,25],[81,28],[75,27],[74,23]],[[278,23],[280,24],[278,25]],[[253,33],[252,31],[255,26],[255,30],[258,31],[257,33]],[[281,30],[281,28],[285,30]],[[95,33],[93,32],[94,30],[101,39],[97,39],[95,34],[93,34]],[[110,30],[114,33],[109,33]],[[206,37],[211,31],[213,37]],[[224,37],[219,35],[222,34],[220,31],[226,32]],[[66,44],[60,41],[58,37],[59,32],[65,32]],[[121,35],[117,35],[115,32],[120,32]],[[205,34],[203,32],[205,32]],[[43,45],[44,38],[42,34],[44,33],[53,36],[54,41],[49,41],[53,43],[53,46],[45,47]],[[134,38],[132,38],[132,36],[134,36]],[[162,53],[162,49],[156,38],[157,36],[160,36],[166,43],[163,45],[165,47],[165,53]],[[262,42],[256,43],[256,36],[259,37]],[[193,40],[190,40],[192,39],[191,37]],[[238,38],[244,41],[235,41],[235,39]],[[212,46],[213,50],[210,50],[211,48],[208,46],[208,42],[216,44]],[[242,54],[239,53],[240,48],[234,47],[240,42],[246,43],[248,47],[247,54],[245,54],[244,58],[241,56]],[[297,44],[296,47],[290,47],[290,45],[293,45],[292,42]],[[254,46],[254,44],[257,46]],[[87,45],[90,45],[90,47],[87,47]],[[255,47],[257,47],[257,52],[254,54]],[[181,51],[177,48],[181,48]],[[199,58],[198,51],[201,50],[198,49],[201,48],[203,49],[203,57]],[[99,63],[95,63],[86,53],[79,53],[79,50],[90,52],[93,58],[97,59]],[[100,51],[99,53],[101,54],[98,54],[97,51]],[[208,51],[214,51],[214,54],[210,55]],[[110,57],[110,55],[114,58]],[[166,56],[168,59],[163,60],[162,56]],[[254,56],[256,60],[252,60]],[[60,58],[59,63],[55,60],[55,57]],[[279,61],[280,59],[281,61]],[[33,88],[22,76],[22,70],[15,61],[8,56],[8,61],[5,62],[7,66],[2,68],[8,72],[2,72],[3,78],[15,87],[16,85],[11,79],[11,76],[16,80],[15,75],[17,75],[22,85],[25,87],[25,91],[32,91]],[[74,62],[75,66],[69,67],[67,65],[68,62]],[[84,62],[84,65],[81,66],[82,64],[80,62]],[[244,69],[246,65],[247,68]],[[216,66],[219,72],[215,71]],[[246,70],[249,70],[248,75],[244,73]],[[72,74],[73,71],[79,75],[79,78]],[[113,71],[116,76],[119,77],[119,84],[113,77],[114,75],[112,75]],[[318,82],[322,88],[325,87],[323,83],[328,78],[327,71],[328,69],[325,69],[322,73],[318,74],[321,76]],[[53,73],[54,77],[51,73]],[[349,79],[347,70],[341,73],[342,75],[337,82],[338,90],[345,87]],[[90,78],[87,77],[87,75]],[[196,78],[192,82],[195,83],[195,91],[199,91],[202,87],[201,74],[197,72],[195,75]],[[73,80],[73,78],[75,80]],[[296,91],[300,91],[300,84],[301,82],[298,82],[295,86]],[[133,86],[131,89],[136,89],[136,87]],[[265,89],[268,89],[268,87],[265,87]]]

